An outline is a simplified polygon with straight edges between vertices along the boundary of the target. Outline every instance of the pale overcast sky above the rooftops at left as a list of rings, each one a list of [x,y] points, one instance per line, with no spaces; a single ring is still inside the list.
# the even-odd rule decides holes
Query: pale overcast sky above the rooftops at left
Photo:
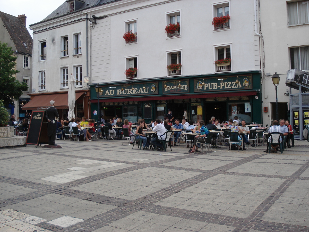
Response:
[[[27,29],[32,36],[29,25],[38,23],[58,8],[66,0],[0,0],[0,11],[9,15],[27,16]]]

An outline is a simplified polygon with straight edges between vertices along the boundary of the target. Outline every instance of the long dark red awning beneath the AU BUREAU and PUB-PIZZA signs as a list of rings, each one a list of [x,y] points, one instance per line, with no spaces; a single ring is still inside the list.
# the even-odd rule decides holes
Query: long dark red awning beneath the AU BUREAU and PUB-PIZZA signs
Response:
[[[222,92],[222,93],[203,93],[203,94],[186,94],[186,95],[161,95],[151,97],[131,97],[131,98],[104,98],[100,99],[99,102],[119,102],[119,101],[150,101],[150,100],[169,100],[169,99],[187,99],[187,98],[209,98],[209,97],[238,97],[238,96],[254,96],[256,90],[245,91],[245,92]],[[96,99],[90,100],[91,103],[98,102]]]

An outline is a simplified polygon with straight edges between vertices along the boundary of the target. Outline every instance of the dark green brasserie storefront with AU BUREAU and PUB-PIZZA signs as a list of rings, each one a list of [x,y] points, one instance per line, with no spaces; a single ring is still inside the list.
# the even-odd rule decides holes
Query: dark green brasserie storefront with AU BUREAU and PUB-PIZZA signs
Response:
[[[105,119],[120,117],[136,122],[143,118],[165,118],[168,110],[188,120],[212,116],[221,122],[238,116],[246,122],[262,123],[260,71],[212,75],[173,76],[154,79],[130,79],[123,82],[99,83],[102,92],[90,85],[91,118],[98,113]]]

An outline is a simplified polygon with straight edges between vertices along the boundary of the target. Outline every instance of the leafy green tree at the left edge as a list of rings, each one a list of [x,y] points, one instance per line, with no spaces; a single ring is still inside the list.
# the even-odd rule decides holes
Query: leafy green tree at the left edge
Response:
[[[18,100],[23,91],[28,91],[28,85],[14,77],[19,72],[15,70],[16,59],[12,48],[0,42],[0,99],[5,105],[14,105],[13,100]]]

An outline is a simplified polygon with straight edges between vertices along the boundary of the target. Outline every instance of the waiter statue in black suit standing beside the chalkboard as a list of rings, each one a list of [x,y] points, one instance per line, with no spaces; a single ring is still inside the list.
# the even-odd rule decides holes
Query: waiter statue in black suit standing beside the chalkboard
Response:
[[[57,125],[57,119],[59,118],[58,110],[55,108],[55,101],[50,101],[50,107],[46,110],[46,116],[47,118],[47,136],[48,136],[48,144],[54,145],[55,144],[55,138],[56,138],[56,125]]]

